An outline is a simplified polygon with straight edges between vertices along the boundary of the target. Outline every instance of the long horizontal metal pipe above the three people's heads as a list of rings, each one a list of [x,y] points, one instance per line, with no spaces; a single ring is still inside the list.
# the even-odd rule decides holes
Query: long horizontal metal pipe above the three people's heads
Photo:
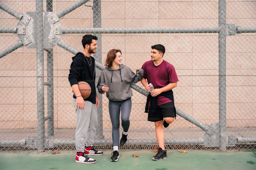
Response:
[[[219,28],[65,28],[62,27],[62,34],[143,34],[143,33],[218,33]]]

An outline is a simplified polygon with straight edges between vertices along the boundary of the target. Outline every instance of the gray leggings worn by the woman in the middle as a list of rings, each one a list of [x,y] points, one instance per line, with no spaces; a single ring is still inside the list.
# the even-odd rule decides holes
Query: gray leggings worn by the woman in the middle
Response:
[[[121,108],[121,121],[124,132],[128,132],[130,126],[130,114],[132,109],[132,99],[123,101],[109,100],[109,115],[112,123],[112,142],[113,146],[118,146],[120,138],[120,108]]]

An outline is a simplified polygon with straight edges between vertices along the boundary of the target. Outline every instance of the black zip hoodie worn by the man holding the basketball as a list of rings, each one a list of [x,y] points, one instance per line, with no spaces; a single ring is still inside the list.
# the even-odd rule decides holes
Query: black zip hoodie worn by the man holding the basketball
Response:
[[[93,72],[90,71],[88,62],[83,53],[78,52],[72,57],[72,63],[69,69],[68,80],[70,85],[78,84],[80,81],[87,82],[91,86],[91,94],[84,99],[92,103],[96,103],[96,88],[95,88],[95,59],[91,56]],[[76,99],[76,96],[73,95]]]

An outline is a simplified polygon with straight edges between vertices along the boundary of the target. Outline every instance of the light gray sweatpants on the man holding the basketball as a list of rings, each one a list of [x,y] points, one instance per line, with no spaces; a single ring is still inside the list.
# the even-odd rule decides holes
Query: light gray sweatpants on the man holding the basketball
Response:
[[[77,117],[76,149],[77,152],[83,152],[85,145],[92,146],[98,127],[96,104],[90,101],[84,101],[85,106],[83,110],[76,107],[77,100],[74,98],[73,103]]]

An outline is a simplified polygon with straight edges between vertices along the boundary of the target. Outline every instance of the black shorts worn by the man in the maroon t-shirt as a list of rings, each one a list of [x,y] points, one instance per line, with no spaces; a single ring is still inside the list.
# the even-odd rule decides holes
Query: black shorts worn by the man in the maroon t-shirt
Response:
[[[148,121],[157,122],[164,120],[164,117],[176,117],[173,102],[158,105],[156,108],[156,113],[151,113],[151,109],[149,107],[147,117]]]

